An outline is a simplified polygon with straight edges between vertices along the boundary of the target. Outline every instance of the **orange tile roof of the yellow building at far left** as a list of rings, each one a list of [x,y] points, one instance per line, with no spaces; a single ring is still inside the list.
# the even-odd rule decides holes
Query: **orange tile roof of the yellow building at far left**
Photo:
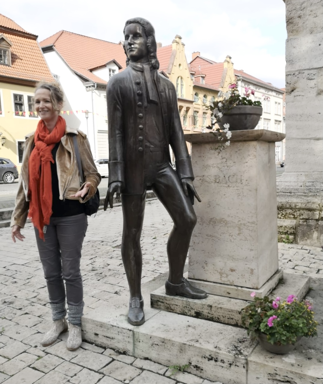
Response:
[[[2,27],[7,28],[4,30]],[[21,32],[12,34],[8,28]],[[36,40],[32,35],[11,19],[0,15],[0,35],[11,41],[11,66],[0,65],[0,76],[26,79],[31,81],[53,81],[46,60]]]

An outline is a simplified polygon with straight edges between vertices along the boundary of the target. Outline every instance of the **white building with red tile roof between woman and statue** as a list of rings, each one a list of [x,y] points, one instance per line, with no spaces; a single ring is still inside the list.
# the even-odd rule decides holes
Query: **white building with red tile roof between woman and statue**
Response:
[[[125,68],[122,44],[59,31],[40,46],[63,88],[67,124],[87,134],[94,158],[109,157],[105,91],[109,78]]]

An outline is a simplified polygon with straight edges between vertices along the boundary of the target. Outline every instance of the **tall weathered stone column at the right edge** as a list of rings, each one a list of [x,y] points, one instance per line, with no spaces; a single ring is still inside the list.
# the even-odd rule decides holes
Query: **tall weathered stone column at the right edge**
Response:
[[[323,2],[286,0],[286,157],[279,232],[323,245]]]

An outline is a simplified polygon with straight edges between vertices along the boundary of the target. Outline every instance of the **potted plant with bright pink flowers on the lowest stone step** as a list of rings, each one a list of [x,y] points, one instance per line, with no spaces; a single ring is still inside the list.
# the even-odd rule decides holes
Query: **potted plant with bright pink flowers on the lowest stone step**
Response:
[[[288,353],[297,341],[317,336],[313,306],[308,300],[298,301],[294,295],[286,300],[268,296],[259,298],[255,292],[249,305],[241,311],[242,326],[251,339],[259,338],[260,345],[273,353]]]

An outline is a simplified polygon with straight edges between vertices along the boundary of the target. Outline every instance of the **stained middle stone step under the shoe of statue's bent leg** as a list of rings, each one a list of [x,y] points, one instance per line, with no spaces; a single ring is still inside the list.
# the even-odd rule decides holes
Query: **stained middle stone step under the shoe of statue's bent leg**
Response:
[[[282,299],[295,295],[299,300],[310,288],[308,276],[284,273],[284,278],[272,291],[272,295]],[[250,299],[250,294],[249,294]],[[248,302],[217,295],[209,295],[202,300],[188,299],[181,296],[168,296],[165,288],[160,287],[150,294],[150,305],[163,311],[175,312],[199,319],[218,321],[219,323],[241,326],[241,309]]]

